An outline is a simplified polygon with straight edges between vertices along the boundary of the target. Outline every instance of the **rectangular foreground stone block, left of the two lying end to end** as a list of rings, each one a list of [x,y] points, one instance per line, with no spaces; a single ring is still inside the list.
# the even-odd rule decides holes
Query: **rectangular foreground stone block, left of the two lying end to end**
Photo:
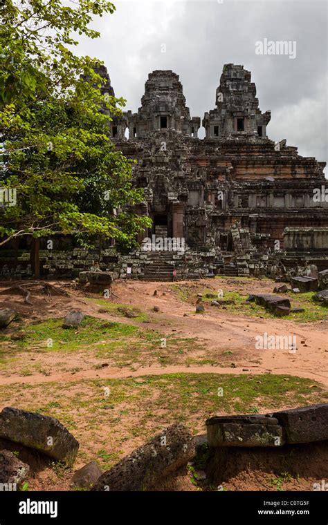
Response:
[[[206,421],[212,447],[275,447],[284,444],[277,419],[265,416],[212,417]]]

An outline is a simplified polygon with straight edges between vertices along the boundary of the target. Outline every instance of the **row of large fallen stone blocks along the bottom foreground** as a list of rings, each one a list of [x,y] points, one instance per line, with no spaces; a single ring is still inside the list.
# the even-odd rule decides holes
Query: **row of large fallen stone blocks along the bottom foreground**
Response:
[[[215,454],[227,447],[253,448],[253,452],[257,448],[280,448],[287,457],[298,443],[328,440],[328,403],[271,414],[210,417],[206,428],[207,435],[193,437],[181,423],[173,424],[104,473],[96,461],[90,461],[75,471],[71,486],[104,492],[154,490],[167,476],[197,460],[204,447]],[[6,450],[3,443],[17,443],[69,467],[73,467],[79,448],[78,441],[57,419],[4,408],[0,413],[0,484],[17,487],[28,478],[30,466]],[[208,454],[208,464],[203,468],[219,468],[211,457]],[[201,470],[195,477],[203,481],[206,473]]]

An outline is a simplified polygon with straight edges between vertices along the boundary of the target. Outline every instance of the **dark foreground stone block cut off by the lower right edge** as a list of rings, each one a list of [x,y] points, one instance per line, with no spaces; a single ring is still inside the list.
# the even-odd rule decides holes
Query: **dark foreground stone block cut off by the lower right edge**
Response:
[[[282,410],[271,415],[284,427],[287,443],[328,439],[328,403]]]

